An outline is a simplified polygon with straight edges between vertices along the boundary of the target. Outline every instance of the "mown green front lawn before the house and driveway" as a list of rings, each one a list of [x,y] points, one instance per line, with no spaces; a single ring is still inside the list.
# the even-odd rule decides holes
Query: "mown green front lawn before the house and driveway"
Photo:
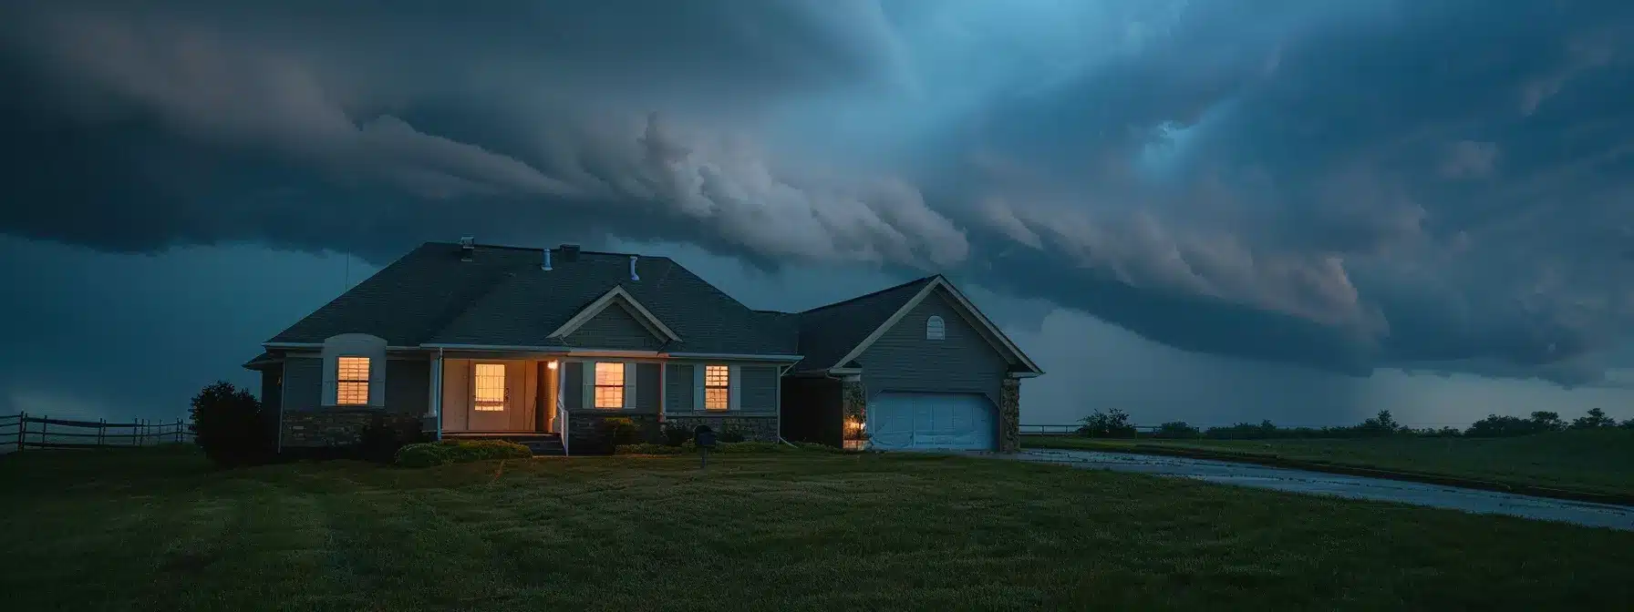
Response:
[[[10,610],[1627,609],[1634,534],[971,457],[0,459]]]

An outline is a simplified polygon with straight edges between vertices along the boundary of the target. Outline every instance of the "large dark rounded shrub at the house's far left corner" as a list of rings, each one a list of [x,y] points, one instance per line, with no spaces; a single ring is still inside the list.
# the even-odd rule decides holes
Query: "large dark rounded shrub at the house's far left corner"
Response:
[[[265,426],[261,403],[248,390],[217,380],[193,397],[194,444],[219,467],[266,462],[276,432]]]

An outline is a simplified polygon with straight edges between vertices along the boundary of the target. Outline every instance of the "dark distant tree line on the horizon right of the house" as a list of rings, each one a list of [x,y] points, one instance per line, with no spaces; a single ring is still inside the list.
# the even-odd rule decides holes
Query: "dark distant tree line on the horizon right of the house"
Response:
[[[1198,429],[1185,421],[1170,421],[1152,432],[1141,432],[1121,410],[1096,410],[1080,419],[1078,436],[1085,437],[1159,437],[1159,439],[1273,439],[1273,437],[1376,437],[1376,436],[1425,436],[1425,437],[1511,437],[1565,429],[1634,429],[1634,418],[1618,423],[1600,408],[1572,419],[1560,413],[1534,411],[1529,418],[1487,415],[1467,429],[1420,428],[1413,429],[1395,421],[1389,410],[1351,426],[1332,428],[1278,428],[1271,421],[1237,423],[1222,428]]]

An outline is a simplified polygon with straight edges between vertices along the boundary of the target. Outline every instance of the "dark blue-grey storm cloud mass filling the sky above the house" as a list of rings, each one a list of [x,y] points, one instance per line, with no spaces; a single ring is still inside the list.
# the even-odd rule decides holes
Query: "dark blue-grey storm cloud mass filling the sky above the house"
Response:
[[[449,5],[453,7],[453,5]],[[1201,353],[1593,384],[1611,2],[23,2],[13,235],[943,269]]]

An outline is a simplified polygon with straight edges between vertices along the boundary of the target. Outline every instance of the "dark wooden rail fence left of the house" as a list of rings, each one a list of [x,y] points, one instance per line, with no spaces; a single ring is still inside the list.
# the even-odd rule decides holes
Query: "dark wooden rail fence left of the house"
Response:
[[[0,416],[0,449],[100,449],[191,442],[193,426],[134,419],[131,423],[72,421],[18,413]]]

